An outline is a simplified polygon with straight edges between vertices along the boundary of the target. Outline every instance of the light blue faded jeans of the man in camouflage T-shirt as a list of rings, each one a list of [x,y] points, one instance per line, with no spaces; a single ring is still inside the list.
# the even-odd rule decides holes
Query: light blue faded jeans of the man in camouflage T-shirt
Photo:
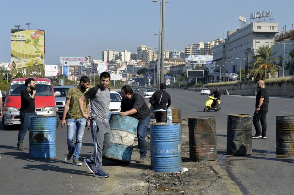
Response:
[[[79,159],[81,147],[82,147],[82,138],[84,135],[87,119],[68,119],[67,120],[67,145],[68,153],[73,154],[73,159]],[[73,145],[74,135],[77,129],[76,135],[76,144]]]

